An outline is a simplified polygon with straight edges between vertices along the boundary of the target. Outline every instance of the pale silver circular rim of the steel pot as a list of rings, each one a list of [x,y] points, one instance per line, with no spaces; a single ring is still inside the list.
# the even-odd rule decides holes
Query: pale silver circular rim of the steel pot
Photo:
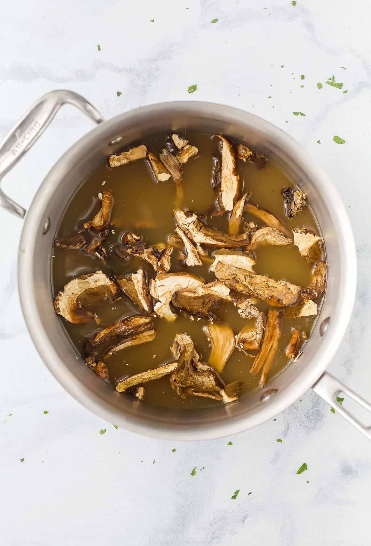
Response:
[[[153,423],[148,423],[148,425],[145,425],[143,422],[134,418],[133,416],[117,416],[115,411],[109,407],[107,402],[101,400],[99,396],[92,393],[88,388],[81,388],[81,385],[76,384],[72,372],[67,370],[67,368],[63,368],[61,365],[60,359],[57,357],[54,351],[54,346],[49,337],[45,335],[44,331],[40,331],[39,321],[37,320],[37,317],[34,316],[35,313],[32,303],[33,298],[30,297],[30,293],[26,289],[26,286],[29,288],[27,278],[29,283],[32,262],[29,260],[27,265],[27,261],[24,259],[24,257],[22,257],[21,248],[27,248],[27,245],[31,244],[31,241],[34,239],[34,225],[39,223],[40,219],[44,217],[44,200],[49,180],[56,176],[56,171],[63,172],[66,170],[65,165],[68,165],[70,158],[73,157],[76,151],[76,148],[78,148],[79,145],[84,145],[85,141],[90,139],[92,133],[98,135],[98,133],[101,132],[103,134],[110,124],[112,126],[114,126],[114,124],[117,122],[122,122],[122,124],[124,124],[129,117],[138,115],[145,116],[147,112],[153,112],[156,108],[161,109],[171,107],[172,109],[176,110],[177,108],[184,108],[186,105],[192,108],[196,108],[197,105],[204,105],[205,108],[214,108],[215,110],[218,108],[223,108],[224,110],[228,109],[229,111],[234,112],[234,114],[237,114],[238,112],[238,114],[241,116],[241,123],[244,123],[243,116],[248,116],[250,118],[250,123],[251,120],[253,120],[264,133],[269,134],[272,140],[280,139],[282,146],[285,146],[285,149],[288,150],[289,155],[296,158],[297,163],[301,165],[305,172],[310,173],[311,178],[322,181],[323,190],[321,188],[321,192],[322,194],[327,194],[331,199],[331,208],[333,211],[336,229],[339,233],[339,238],[343,240],[343,250],[346,255],[346,270],[343,271],[343,299],[338,302],[337,316],[332,317],[331,321],[331,326],[332,323],[336,321],[335,327],[328,329],[329,331],[326,333],[326,342],[324,343],[323,351],[314,363],[307,366],[305,373],[303,372],[300,376],[296,377],[294,381],[286,385],[284,390],[281,390],[276,396],[273,397],[272,400],[269,401],[269,404],[262,404],[261,408],[254,414],[240,417],[232,423],[227,421],[225,423],[218,423],[217,425],[210,424],[208,428],[196,430],[179,429],[179,432],[174,432],[173,429],[163,428],[159,424],[154,425]],[[357,265],[355,242],[350,221],[343,202],[340,199],[337,189],[335,186],[333,186],[325,171],[320,167],[320,165],[317,164],[315,159],[311,158],[307,151],[305,151],[295,139],[270,121],[267,121],[260,116],[256,116],[256,114],[252,112],[223,104],[180,100],[146,105],[141,108],[129,110],[128,112],[124,112],[123,114],[115,116],[110,120],[104,121],[76,141],[76,143],[73,144],[60,159],[58,159],[57,163],[54,165],[54,167],[52,167],[40,185],[25,218],[20,240],[18,286],[23,317],[25,318],[25,322],[34,346],[44,361],[44,364],[51,371],[52,375],[54,375],[57,381],[64,387],[64,389],[68,391],[70,395],[75,398],[75,400],[79,401],[93,413],[96,413],[99,417],[107,419],[108,422],[119,424],[120,428],[125,428],[132,432],[137,432],[139,434],[156,438],[194,441],[210,440],[212,438],[232,435],[257,426],[258,424],[261,424],[269,418],[272,418],[273,416],[284,411],[300,396],[302,396],[305,391],[309,390],[309,388],[314,385],[333,358],[340,345],[341,339],[344,336],[346,327],[348,326],[350,312],[355,299],[356,272]],[[317,324],[316,327],[318,328],[319,325]],[[47,340],[46,342],[45,337]],[[267,387],[269,387],[269,385],[267,385]]]

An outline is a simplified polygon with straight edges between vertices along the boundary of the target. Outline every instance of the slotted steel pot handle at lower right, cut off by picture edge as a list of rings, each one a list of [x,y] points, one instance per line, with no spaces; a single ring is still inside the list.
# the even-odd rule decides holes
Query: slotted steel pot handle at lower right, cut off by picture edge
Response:
[[[365,408],[369,413],[371,413],[371,404],[363,400],[361,396],[358,396],[352,390],[345,387],[343,383],[340,383],[337,378],[333,377],[330,373],[323,373],[319,380],[313,385],[313,390],[317,393],[323,400],[325,400],[329,405],[336,408],[336,411],[340,413],[341,416],[345,417],[350,424],[355,426],[364,436],[371,440],[371,426],[365,426],[358,420],[352,413],[347,411],[344,406],[341,406],[337,401],[337,396],[339,393],[344,393],[348,395],[352,400],[360,404]]]

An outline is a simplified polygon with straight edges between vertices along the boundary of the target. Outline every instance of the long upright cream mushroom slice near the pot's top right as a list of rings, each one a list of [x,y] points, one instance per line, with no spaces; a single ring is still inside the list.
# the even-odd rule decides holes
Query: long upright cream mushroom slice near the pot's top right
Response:
[[[224,136],[216,135],[221,140],[221,199],[225,210],[233,210],[238,197],[239,176],[235,175],[235,157],[232,144]]]

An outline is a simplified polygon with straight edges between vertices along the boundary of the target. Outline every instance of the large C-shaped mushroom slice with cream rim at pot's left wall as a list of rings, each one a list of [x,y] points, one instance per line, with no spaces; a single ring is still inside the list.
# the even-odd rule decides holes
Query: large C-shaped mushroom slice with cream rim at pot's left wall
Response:
[[[98,300],[116,299],[119,294],[116,284],[102,271],[96,271],[65,284],[54,300],[54,308],[66,321],[82,324],[95,316],[93,307]]]

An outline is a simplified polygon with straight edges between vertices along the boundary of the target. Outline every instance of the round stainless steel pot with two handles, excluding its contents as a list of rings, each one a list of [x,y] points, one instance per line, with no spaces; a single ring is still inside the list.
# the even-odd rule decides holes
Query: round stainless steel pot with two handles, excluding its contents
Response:
[[[104,121],[83,97],[51,91],[40,98],[0,145],[0,179],[31,148],[63,104],[73,104],[97,124],[54,165],[27,213],[0,191],[0,204],[25,218],[19,248],[21,306],[34,345],[63,387],[92,412],[120,428],[179,440],[231,435],[275,417],[309,388],[369,438],[371,429],[337,402],[346,394],[371,412],[371,405],[327,373],[348,325],[356,288],[356,252],[348,216],[325,172],[290,136],[248,112],[203,102],[168,102],[131,110]],[[163,130],[192,128],[232,135],[266,152],[308,195],[319,221],[328,260],[327,290],[316,327],[301,358],[263,389],[228,405],[170,410],[140,403],[99,381],[69,341],[55,314],[51,287],[51,251],[63,211],[81,182],[99,163],[132,141]]]

